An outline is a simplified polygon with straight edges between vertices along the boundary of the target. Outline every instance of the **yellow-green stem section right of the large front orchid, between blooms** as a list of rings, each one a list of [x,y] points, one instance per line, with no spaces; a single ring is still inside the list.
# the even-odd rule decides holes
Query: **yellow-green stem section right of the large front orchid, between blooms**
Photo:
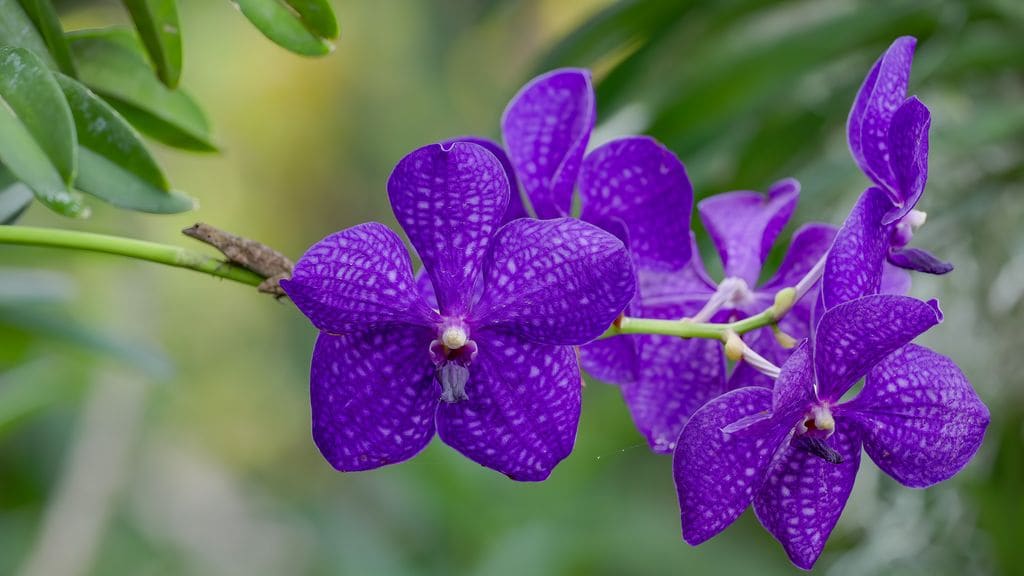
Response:
[[[601,338],[621,334],[665,334],[681,338],[710,338],[724,342],[729,334],[742,335],[778,322],[793,307],[796,293],[794,288],[784,288],[775,295],[775,302],[761,313],[723,324],[624,316],[605,330]]]

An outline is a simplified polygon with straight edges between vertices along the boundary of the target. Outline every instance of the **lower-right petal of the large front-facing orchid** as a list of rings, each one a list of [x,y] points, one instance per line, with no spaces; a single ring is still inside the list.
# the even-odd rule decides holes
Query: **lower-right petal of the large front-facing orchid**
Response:
[[[441,440],[513,480],[545,480],[575,443],[583,381],[571,346],[487,330],[466,384],[468,400],[437,410]]]

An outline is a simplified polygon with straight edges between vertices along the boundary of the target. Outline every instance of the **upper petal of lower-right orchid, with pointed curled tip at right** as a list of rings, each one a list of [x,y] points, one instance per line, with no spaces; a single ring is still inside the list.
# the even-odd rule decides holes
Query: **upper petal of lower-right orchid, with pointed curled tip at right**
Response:
[[[939,322],[936,300],[908,296],[877,294],[829,308],[814,342],[818,398],[838,401],[872,366]]]

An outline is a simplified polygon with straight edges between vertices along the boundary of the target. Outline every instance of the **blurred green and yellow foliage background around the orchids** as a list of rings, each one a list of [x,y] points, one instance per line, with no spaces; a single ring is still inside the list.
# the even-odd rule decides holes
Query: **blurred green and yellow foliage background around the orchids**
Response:
[[[127,23],[117,2],[58,5],[70,29]],[[498,136],[518,87],[567,65],[598,82],[592,143],[650,133],[687,165],[698,197],[793,175],[804,189],[790,231],[839,223],[866,184],[845,146],[850,102],[888,43],[915,35],[911,92],[933,112],[920,206],[929,220],[915,244],[957,266],[915,277],[913,294],[946,312],[922,341],[956,360],[992,424],[973,463],[926,491],[865,459],[816,572],[1020,573],[1024,4],[335,8],[337,50],[303,59],[228,2],[181,2],[182,84],[222,153],[158,150],[201,208],[152,216],[96,202],[91,219],[70,221],[35,206],[22,223],[184,246],[178,231],[203,220],[296,257],[331,232],[393,224],[384,184],[403,154],[459,134]],[[401,465],[338,474],[309,435],[313,338],[287,301],[242,285],[0,247],[0,573],[796,572],[751,513],[699,548],[684,544],[671,459],[647,451],[618,392],[600,382],[587,385],[575,451],[545,483],[513,483],[437,441]]]

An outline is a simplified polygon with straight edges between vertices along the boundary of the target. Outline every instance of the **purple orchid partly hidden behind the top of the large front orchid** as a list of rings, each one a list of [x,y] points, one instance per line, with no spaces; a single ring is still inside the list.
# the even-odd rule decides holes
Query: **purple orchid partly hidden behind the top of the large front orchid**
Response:
[[[581,219],[623,238],[641,269],[678,271],[690,258],[693,189],[682,162],[657,140],[627,136],[585,155],[597,118],[590,72],[559,69],[527,82],[502,115],[504,148],[464,136],[505,168],[512,197],[505,220],[568,216],[579,186]]]

